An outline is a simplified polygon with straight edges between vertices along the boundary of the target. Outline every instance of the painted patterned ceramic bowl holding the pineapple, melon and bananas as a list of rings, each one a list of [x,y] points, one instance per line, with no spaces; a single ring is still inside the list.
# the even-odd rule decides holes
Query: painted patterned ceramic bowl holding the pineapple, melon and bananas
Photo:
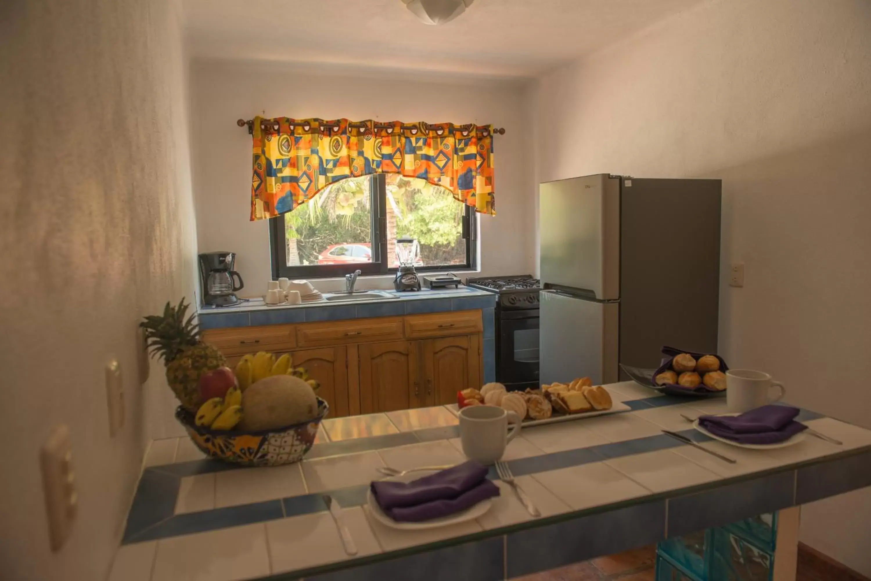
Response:
[[[243,466],[280,466],[299,462],[314,444],[329,404],[318,398],[318,415],[309,422],[259,432],[218,430],[198,426],[193,414],[179,406],[175,417],[204,454]]]

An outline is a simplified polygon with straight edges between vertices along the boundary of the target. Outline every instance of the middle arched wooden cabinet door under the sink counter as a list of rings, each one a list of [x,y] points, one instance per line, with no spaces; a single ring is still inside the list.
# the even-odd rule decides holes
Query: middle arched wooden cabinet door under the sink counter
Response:
[[[360,353],[360,408],[363,414],[419,407],[415,342],[363,343]]]

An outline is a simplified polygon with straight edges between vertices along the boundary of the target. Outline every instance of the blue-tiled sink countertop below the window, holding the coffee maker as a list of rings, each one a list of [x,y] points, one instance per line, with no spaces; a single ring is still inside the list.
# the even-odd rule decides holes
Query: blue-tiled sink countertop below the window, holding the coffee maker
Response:
[[[465,311],[496,307],[496,294],[468,287],[398,293],[381,290],[392,298],[377,301],[314,302],[306,305],[269,307],[262,299],[252,299],[236,307],[199,307],[199,327],[233,328],[257,325],[279,325],[312,321],[365,319],[402,314]]]

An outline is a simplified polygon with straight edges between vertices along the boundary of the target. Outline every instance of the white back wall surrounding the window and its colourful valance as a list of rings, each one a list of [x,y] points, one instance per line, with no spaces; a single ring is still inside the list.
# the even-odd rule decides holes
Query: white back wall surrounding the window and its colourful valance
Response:
[[[534,196],[530,162],[523,157],[531,152],[523,147],[522,105],[521,88],[505,81],[195,62],[193,189],[199,252],[237,253],[237,270],[246,281],[240,294],[265,294],[271,277],[269,233],[267,220],[248,220],[251,136],[236,126],[238,118],[261,114],[491,123],[506,133],[494,143],[498,214],[481,216],[481,269],[483,274],[528,274],[536,256],[530,220]],[[373,283],[366,281],[367,286]],[[330,288],[329,283],[316,284]]]

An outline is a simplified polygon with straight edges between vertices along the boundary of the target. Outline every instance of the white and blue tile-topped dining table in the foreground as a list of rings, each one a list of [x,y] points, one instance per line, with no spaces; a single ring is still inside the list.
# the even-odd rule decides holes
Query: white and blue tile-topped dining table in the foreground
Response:
[[[110,581],[510,579],[871,485],[871,431],[801,410],[807,436],[740,449],[682,415],[726,411],[725,398],[605,386],[630,411],[522,429],[505,460],[541,511],[530,517],[496,470],[490,510],[462,524],[395,530],[369,513],[378,467],[462,463],[456,406],[322,422],[306,458],[274,468],[207,459],[186,438],[152,442]],[[662,433],[678,431],[726,463]],[[339,503],[349,557],[321,495]]]

